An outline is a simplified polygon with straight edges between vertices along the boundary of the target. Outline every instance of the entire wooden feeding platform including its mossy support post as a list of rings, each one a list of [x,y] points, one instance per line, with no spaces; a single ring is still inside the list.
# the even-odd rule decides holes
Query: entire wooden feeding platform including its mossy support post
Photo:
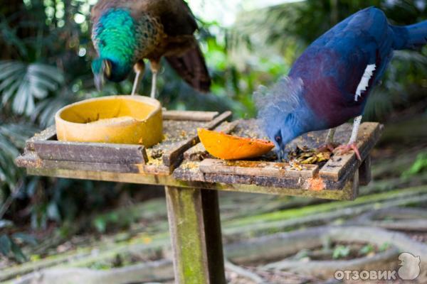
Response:
[[[382,126],[364,123],[353,152],[317,165],[278,163],[273,152],[253,160],[211,157],[197,128],[264,138],[255,120],[228,122],[231,112],[163,111],[164,138],[156,145],[62,142],[54,127],[26,143],[16,163],[30,175],[164,185],[176,283],[225,283],[218,190],[353,200],[370,180],[369,153]],[[345,143],[352,125],[339,126],[335,141]],[[317,148],[327,131],[307,133],[288,145]]]

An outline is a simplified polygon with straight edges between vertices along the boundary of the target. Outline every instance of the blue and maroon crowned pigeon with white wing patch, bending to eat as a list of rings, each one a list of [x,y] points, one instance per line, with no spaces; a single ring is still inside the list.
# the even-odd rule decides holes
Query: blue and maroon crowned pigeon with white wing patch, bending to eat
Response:
[[[367,97],[384,75],[393,50],[426,43],[427,21],[391,26],[374,7],[354,13],[321,35],[295,61],[286,79],[267,95],[257,96],[258,117],[280,158],[293,138],[332,129],[352,118],[352,136],[340,149],[354,149],[360,158],[355,141]]]

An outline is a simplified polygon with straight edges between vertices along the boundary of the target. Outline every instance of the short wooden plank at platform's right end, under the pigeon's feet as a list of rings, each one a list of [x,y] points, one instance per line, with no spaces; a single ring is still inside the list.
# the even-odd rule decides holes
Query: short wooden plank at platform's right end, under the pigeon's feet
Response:
[[[383,128],[381,124],[375,122],[364,122],[361,124],[357,135],[357,147],[359,148],[362,160],[367,157],[371,148],[373,148],[376,141],[378,141]],[[353,151],[344,155],[333,155],[332,158],[320,168],[319,175],[321,178],[337,181],[351,172],[350,168],[358,168],[359,165],[360,162],[357,160]]]

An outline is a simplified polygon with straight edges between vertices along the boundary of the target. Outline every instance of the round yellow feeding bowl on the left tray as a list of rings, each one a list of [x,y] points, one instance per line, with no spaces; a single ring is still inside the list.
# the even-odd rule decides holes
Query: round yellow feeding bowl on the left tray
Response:
[[[55,116],[59,141],[153,146],[162,140],[162,105],[142,96],[86,99]]]

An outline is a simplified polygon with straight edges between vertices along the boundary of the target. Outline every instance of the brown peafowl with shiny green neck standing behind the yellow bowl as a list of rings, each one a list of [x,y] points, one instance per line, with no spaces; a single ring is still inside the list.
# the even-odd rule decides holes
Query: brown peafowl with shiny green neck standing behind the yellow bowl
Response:
[[[92,62],[97,89],[105,80],[125,80],[133,67],[132,95],[136,94],[148,59],[154,98],[164,57],[191,87],[209,92],[211,77],[194,37],[198,26],[184,0],[100,0],[92,9],[92,21],[99,55]]]

